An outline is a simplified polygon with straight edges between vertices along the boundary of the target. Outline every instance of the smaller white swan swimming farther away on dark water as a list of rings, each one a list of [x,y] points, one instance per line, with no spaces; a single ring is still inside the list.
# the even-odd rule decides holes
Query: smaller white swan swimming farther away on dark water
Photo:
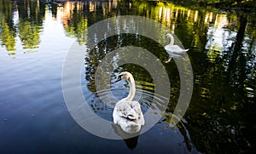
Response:
[[[172,34],[168,33],[166,34],[166,37],[171,38],[170,43],[165,46],[167,54],[170,55],[170,59],[172,59],[172,54],[184,54],[187,51],[189,51],[189,49],[183,49],[183,48],[180,48],[178,45],[173,45],[174,37],[172,36]]]

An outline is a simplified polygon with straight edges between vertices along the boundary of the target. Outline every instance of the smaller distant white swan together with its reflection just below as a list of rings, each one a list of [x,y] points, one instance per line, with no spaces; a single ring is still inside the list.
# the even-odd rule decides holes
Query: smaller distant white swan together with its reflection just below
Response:
[[[166,37],[170,37],[170,43],[165,46],[166,53],[169,54],[168,60],[165,62],[168,63],[172,60],[172,58],[184,58],[184,54],[189,51],[189,49],[183,49],[180,48],[178,45],[173,45],[174,44],[174,37],[172,34],[168,33],[166,34]]]

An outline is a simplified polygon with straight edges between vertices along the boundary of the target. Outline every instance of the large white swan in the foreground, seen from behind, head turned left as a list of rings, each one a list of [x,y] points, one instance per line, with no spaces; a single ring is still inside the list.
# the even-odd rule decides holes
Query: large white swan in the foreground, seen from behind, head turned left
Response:
[[[113,109],[113,123],[118,124],[126,133],[134,134],[140,131],[144,125],[143,112],[137,101],[132,101],[135,96],[135,81],[131,73],[124,71],[119,74],[115,83],[125,79],[130,86],[130,92],[127,97],[119,100]]]

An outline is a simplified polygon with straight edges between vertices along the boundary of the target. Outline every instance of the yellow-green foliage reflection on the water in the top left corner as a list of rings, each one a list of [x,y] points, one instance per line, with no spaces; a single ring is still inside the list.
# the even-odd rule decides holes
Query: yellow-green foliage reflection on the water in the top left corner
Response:
[[[0,10],[1,45],[7,51],[15,51],[17,37],[20,37],[24,49],[38,48],[44,19],[43,2],[2,0]]]

